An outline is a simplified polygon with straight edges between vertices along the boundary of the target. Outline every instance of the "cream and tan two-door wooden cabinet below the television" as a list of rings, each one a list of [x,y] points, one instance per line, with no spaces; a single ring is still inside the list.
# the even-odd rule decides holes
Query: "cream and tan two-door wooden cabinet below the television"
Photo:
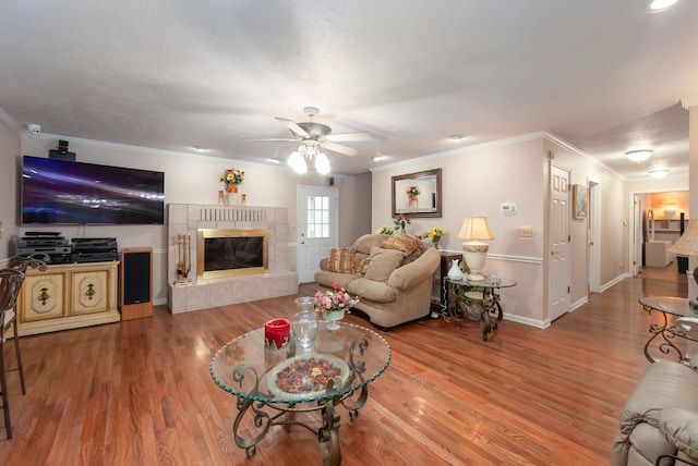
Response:
[[[19,333],[76,329],[118,322],[118,261],[49,266],[28,269],[20,298]]]

